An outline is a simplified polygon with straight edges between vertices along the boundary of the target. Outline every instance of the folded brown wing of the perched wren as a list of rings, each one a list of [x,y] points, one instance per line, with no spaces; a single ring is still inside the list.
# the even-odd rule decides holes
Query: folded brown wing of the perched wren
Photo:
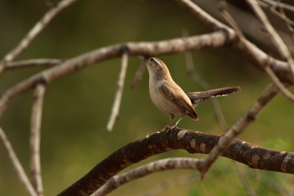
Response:
[[[192,106],[191,103],[189,103],[187,101],[187,99],[185,97],[183,97],[183,96],[186,96],[186,94],[184,92],[181,93],[183,90],[179,86],[172,87],[171,85],[168,85],[168,84],[166,84],[166,85],[161,86],[162,92],[168,98],[170,98],[174,103],[176,103],[178,106],[180,106],[181,108],[186,110],[187,115],[189,115],[194,120],[198,120],[197,113],[196,113],[194,107]],[[175,89],[175,88],[179,88],[179,89]],[[176,91],[179,91],[179,93],[176,93]]]

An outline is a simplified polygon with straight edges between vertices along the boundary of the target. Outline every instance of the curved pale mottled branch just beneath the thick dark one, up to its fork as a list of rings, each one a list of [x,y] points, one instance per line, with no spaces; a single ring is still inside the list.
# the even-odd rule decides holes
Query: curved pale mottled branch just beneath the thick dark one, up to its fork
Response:
[[[108,180],[108,182],[106,182],[103,186],[96,190],[91,196],[107,195],[120,185],[123,185],[139,177],[143,177],[158,171],[171,169],[198,170],[198,162],[199,159],[187,157],[166,158],[162,160],[157,160],[146,165],[142,165],[136,169],[133,169],[121,175],[113,176],[110,180]]]

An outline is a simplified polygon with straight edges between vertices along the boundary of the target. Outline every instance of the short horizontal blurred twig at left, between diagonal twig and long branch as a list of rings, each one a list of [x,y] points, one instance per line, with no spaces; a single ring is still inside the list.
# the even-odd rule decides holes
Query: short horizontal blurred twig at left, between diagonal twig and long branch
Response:
[[[59,63],[62,63],[64,60],[55,59],[55,58],[37,58],[37,59],[27,59],[23,61],[14,61],[7,64],[5,69],[16,69],[24,67],[33,67],[33,66],[48,66],[52,67]]]

